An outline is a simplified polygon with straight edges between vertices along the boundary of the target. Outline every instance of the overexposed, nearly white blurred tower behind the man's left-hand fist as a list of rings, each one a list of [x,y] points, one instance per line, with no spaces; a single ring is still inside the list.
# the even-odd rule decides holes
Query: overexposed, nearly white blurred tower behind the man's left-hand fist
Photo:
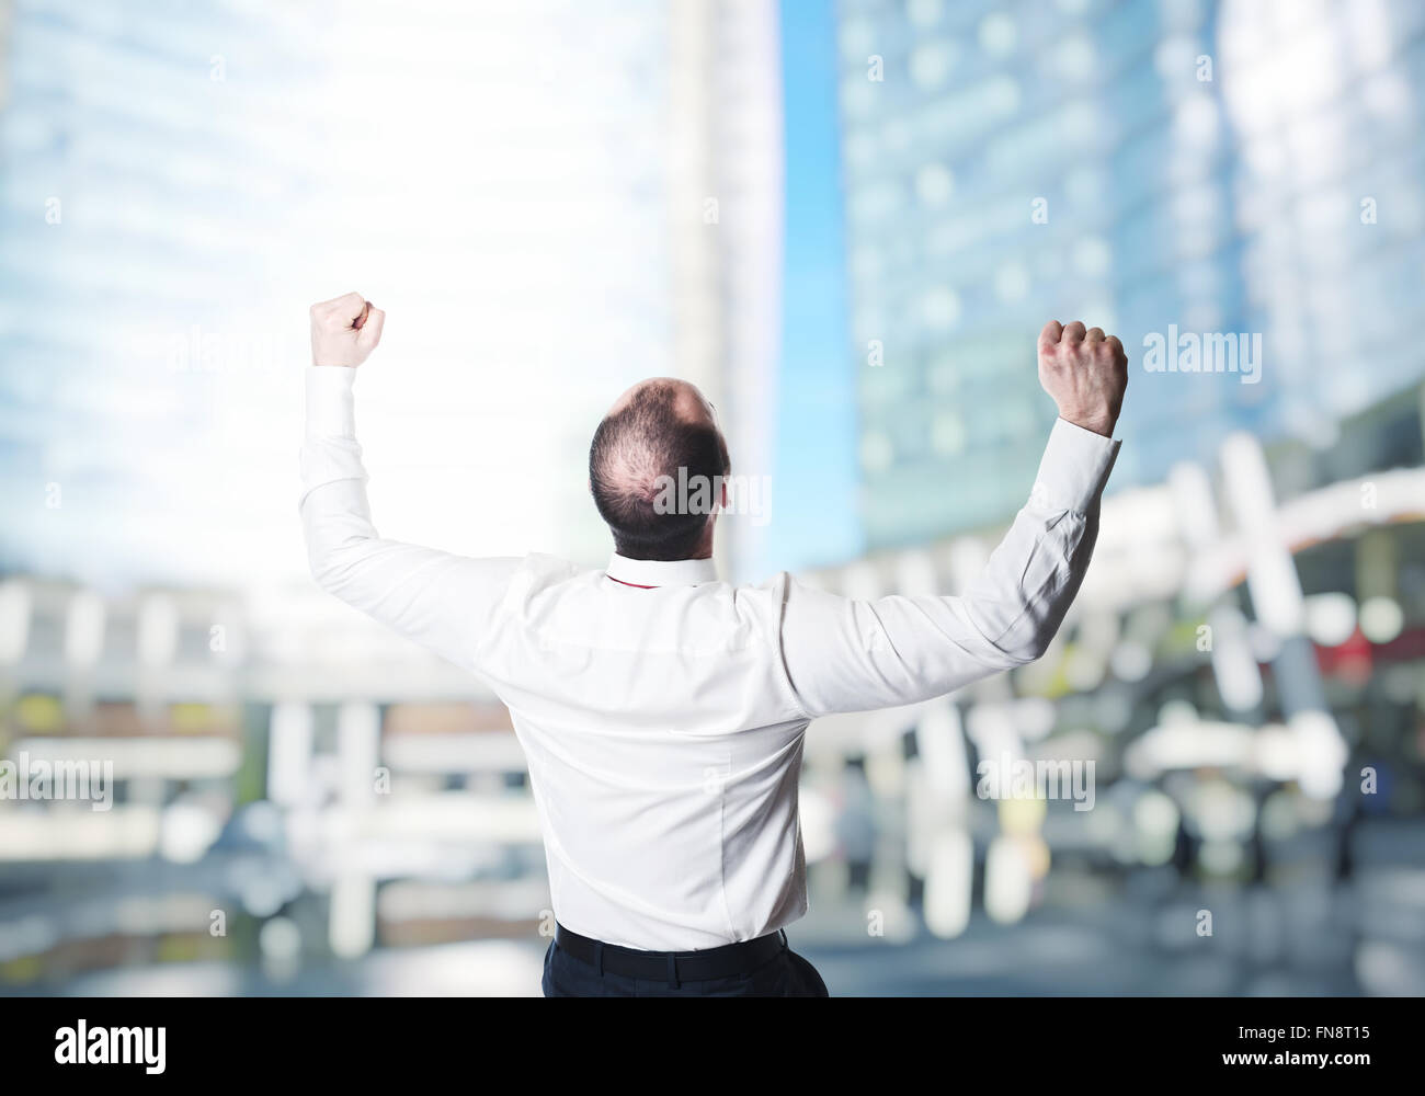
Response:
[[[299,577],[306,305],[352,286],[392,316],[362,376],[383,532],[601,563],[589,442],[650,375],[767,470],[775,9],[0,13],[6,567]]]

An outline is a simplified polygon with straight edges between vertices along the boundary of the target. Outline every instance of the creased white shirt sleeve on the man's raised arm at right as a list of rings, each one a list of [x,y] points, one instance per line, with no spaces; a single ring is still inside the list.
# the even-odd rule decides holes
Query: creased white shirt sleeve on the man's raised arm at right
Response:
[[[787,586],[782,658],[809,717],[915,704],[1045,653],[1093,553],[1119,442],[1059,419],[1027,505],[963,597]]]

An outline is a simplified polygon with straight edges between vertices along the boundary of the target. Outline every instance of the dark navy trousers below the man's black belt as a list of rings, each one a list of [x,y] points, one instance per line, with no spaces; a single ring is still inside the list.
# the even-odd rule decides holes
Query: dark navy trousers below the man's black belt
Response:
[[[543,988],[547,998],[825,998],[826,983],[817,968],[785,946],[775,958],[745,973],[697,982],[628,978],[600,973],[596,966],[561,951],[554,941],[544,952]],[[664,952],[653,952],[664,955]]]

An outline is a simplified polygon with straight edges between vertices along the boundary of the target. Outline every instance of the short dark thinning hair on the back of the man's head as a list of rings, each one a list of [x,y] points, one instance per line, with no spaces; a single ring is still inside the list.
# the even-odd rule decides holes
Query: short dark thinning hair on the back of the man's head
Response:
[[[678,393],[667,382],[643,385],[623,408],[604,416],[589,446],[594,506],[614,534],[614,550],[628,559],[688,559],[703,539],[708,513],[656,506],[667,483],[661,477],[717,483],[715,477],[728,473],[722,435],[711,423],[680,418]]]

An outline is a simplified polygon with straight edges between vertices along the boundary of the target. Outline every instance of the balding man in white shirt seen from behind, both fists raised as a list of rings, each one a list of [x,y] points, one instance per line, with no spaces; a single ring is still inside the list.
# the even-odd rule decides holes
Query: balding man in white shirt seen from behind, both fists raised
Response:
[[[785,573],[755,587],[718,580],[727,445],[697,388],[668,378],[634,385],[594,433],[589,486],[616,549],[606,570],[382,539],[352,381],[386,316],[359,294],[311,315],[301,512],[312,574],[509,707],[557,919],[544,993],[825,996],[782,931],[807,912],[807,724],[939,697],[1043,654],[1089,566],[1119,450],[1119,339],[1079,322],[1040,332],[1059,420],[1027,505],[969,590],[871,601]],[[670,485],[697,486],[680,497]]]

